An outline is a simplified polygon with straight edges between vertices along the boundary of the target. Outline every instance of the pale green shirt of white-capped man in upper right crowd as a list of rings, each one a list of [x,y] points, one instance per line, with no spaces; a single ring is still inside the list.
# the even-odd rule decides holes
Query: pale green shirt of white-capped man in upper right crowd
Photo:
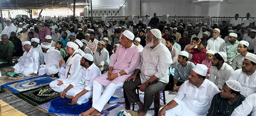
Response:
[[[227,54],[227,60],[229,62],[232,62],[234,57],[239,55],[239,53],[237,52],[238,44],[239,44],[239,41],[236,40],[234,45],[230,44],[229,42],[224,45],[223,52],[225,52]]]

